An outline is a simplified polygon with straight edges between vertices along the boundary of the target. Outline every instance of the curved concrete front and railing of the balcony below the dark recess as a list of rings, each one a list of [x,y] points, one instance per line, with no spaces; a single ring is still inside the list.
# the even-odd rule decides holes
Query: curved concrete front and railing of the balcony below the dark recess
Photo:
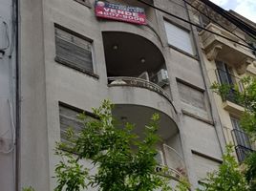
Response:
[[[108,77],[110,97],[115,104],[133,104],[160,110],[175,121],[177,111],[171,97],[159,85],[129,76]]]

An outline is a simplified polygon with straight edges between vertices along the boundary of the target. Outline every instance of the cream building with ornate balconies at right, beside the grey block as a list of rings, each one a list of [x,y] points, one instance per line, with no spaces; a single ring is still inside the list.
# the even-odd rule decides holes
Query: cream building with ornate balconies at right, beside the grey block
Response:
[[[211,6],[205,5],[201,1],[193,1],[193,5],[201,11],[201,13],[194,11],[197,15],[195,18],[200,18],[197,19],[201,21],[200,25],[234,41],[231,42],[214,33],[199,32],[203,59],[210,83],[219,82],[230,86],[237,85],[239,90],[243,91],[244,87],[240,80],[247,75],[253,77],[256,75],[255,51],[245,47],[251,45],[252,48],[256,48],[256,35],[240,29]],[[234,11],[228,11],[227,13],[240,19],[241,22],[245,22],[245,25],[256,32],[255,23]],[[248,43],[245,43],[245,41]],[[240,117],[242,117],[245,109],[235,99],[235,90],[230,91],[226,98],[215,95],[214,100],[223,125],[225,142],[226,144],[235,145],[235,155],[238,161],[242,162],[248,152],[255,150],[255,145],[249,140],[239,124]]]

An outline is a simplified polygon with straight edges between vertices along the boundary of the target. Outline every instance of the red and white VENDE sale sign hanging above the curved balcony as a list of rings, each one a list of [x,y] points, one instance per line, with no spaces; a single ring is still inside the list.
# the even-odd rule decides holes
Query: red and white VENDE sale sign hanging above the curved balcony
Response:
[[[146,14],[143,8],[96,1],[96,16],[100,18],[146,25]]]

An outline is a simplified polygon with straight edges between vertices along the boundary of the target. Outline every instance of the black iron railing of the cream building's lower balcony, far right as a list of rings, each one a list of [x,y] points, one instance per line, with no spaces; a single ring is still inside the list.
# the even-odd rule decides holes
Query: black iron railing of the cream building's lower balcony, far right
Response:
[[[249,153],[253,152],[250,140],[244,131],[233,129],[231,133],[235,144],[237,158],[239,162],[242,162]]]

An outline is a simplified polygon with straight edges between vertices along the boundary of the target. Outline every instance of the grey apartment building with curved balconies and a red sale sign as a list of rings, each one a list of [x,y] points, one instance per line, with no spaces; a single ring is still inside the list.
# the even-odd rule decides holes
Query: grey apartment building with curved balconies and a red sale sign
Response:
[[[209,89],[214,61],[206,58],[203,32],[189,24],[194,14],[183,0],[23,0],[18,8],[18,82],[12,87],[19,90],[18,133],[13,151],[0,155],[5,191],[14,185],[53,190],[55,142],[65,141],[70,125],[79,131],[76,114],[94,117],[91,108],[105,98],[139,135],[149,117],[160,114],[157,159],[170,169],[170,181],[185,176],[193,190],[218,168],[226,133],[222,101]],[[12,88],[1,86],[0,94]],[[10,119],[0,120],[1,131],[3,121]]]

